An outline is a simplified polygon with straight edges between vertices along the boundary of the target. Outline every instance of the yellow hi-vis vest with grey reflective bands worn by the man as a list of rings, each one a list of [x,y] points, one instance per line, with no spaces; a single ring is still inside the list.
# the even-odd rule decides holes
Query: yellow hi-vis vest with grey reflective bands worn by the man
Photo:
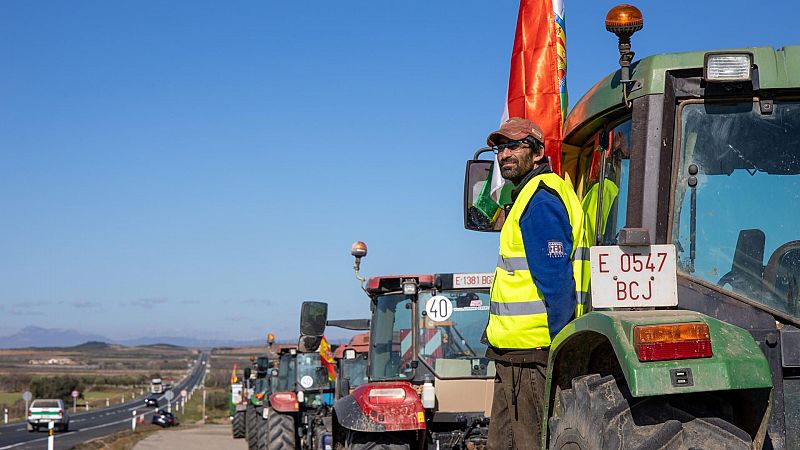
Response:
[[[500,258],[494,272],[489,324],[486,337],[498,349],[531,349],[550,346],[547,309],[542,292],[536,286],[528,268],[522,230],[519,221],[540,184],[558,195],[566,207],[572,225],[572,273],[578,301],[576,316],[584,311],[589,291],[589,249],[584,236],[584,217],[581,203],[561,177],[546,173],[533,177],[514,201],[500,231]]]

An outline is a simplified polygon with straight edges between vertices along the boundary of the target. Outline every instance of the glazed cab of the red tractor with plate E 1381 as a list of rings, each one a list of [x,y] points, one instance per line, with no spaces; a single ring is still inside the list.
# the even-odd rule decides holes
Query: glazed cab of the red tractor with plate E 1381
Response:
[[[491,274],[370,279],[369,379],[424,383],[434,378],[493,378],[494,366],[485,358],[486,344],[481,342],[491,279]]]

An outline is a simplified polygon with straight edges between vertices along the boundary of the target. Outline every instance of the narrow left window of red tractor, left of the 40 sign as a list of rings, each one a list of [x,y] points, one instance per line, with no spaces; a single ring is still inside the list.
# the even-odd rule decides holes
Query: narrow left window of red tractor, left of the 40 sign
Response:
[[[411,308],[411,300],[403,294],[377,298],[370,334],[371,379],[413,378]]]

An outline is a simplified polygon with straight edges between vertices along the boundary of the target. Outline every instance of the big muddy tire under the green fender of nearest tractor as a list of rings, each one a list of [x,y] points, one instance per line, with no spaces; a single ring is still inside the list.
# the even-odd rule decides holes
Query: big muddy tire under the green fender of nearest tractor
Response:
[[[672,398],[670,398],[672,397]],[[598,374],[577,377],[558,393],[548,422],[554,450],[749,449],[752,438],[719,417],[698,411],[697,397],[634,398],[624,382]]]

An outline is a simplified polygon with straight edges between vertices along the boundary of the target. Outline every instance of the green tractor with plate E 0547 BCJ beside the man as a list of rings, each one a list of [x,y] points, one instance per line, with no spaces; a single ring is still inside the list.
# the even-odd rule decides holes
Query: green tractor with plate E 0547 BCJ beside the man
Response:
[[[542,448],[800,448],[800,46],[653,55],[565,123],[591,303],[550,348]],[[467,164],[468,229],[491,179]]]

